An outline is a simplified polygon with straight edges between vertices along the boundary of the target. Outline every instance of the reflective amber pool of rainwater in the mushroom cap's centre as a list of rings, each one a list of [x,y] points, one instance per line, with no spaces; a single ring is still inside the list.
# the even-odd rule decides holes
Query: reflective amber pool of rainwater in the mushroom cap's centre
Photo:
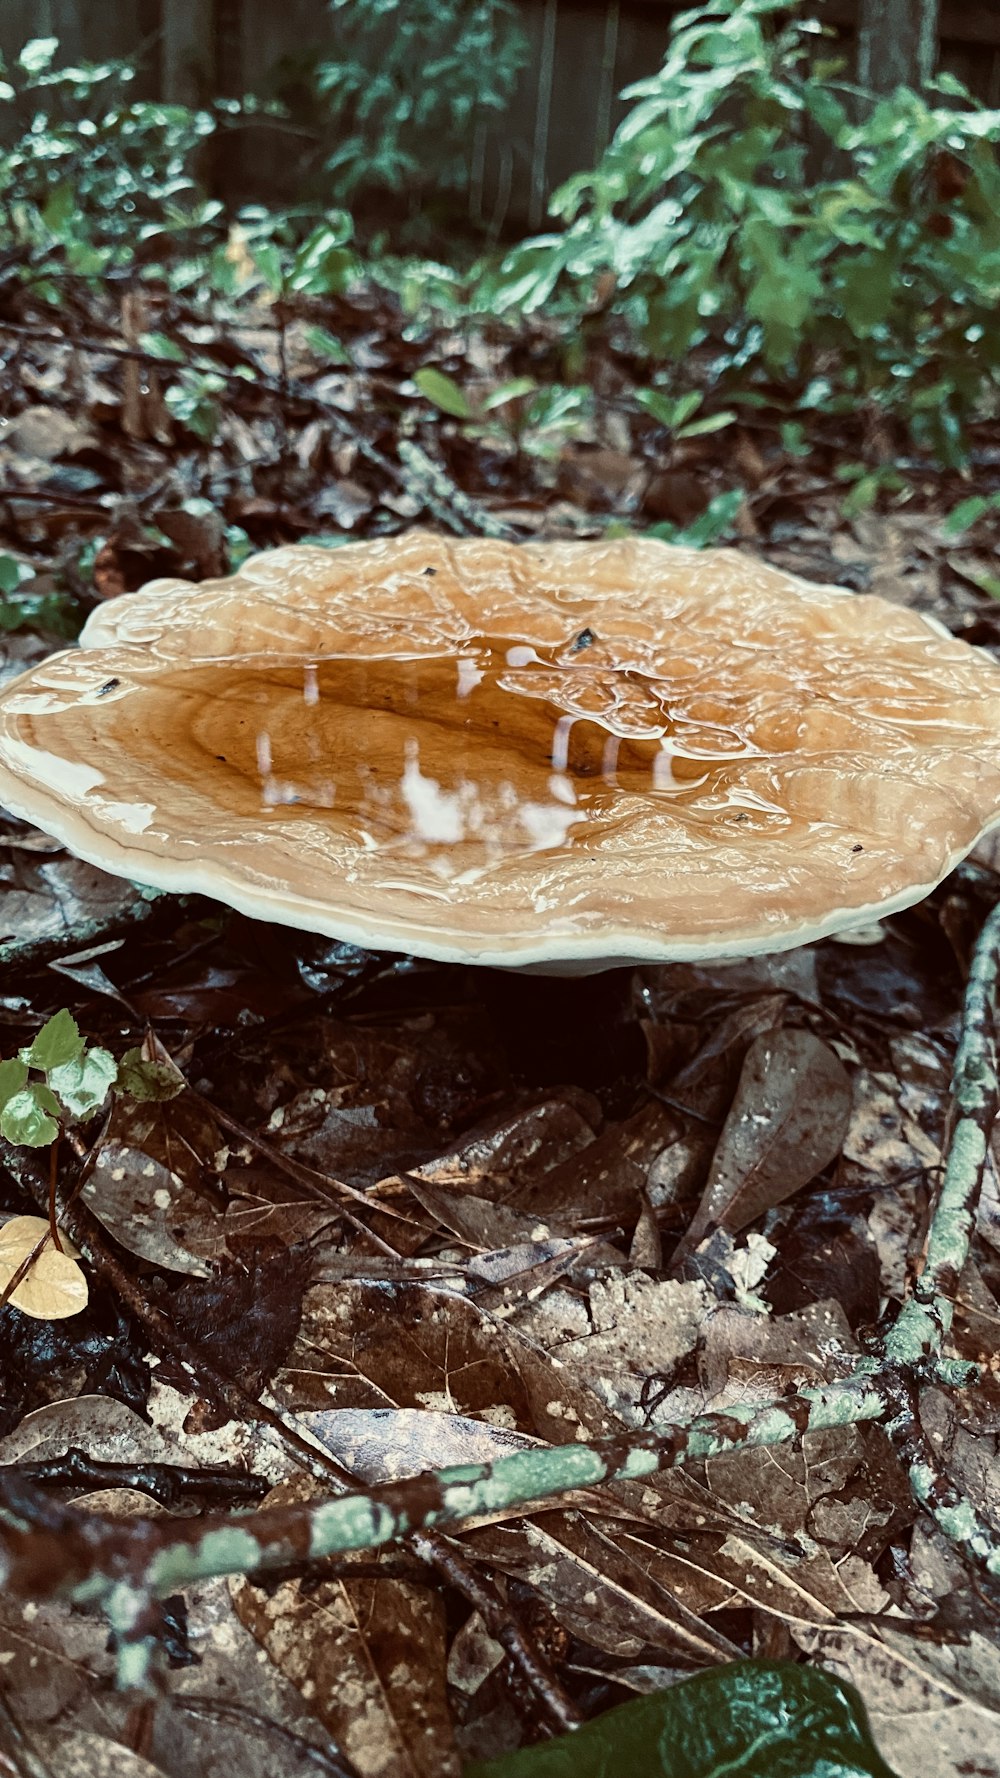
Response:
[[[214,663],[203,686],[189,667],[174,685],[206,765],[263,811],[322,811],[359,846],[436,853],[441,869],[584,845],[623,793],[698,793],[701,820],[788,823],[728,782],[762,749],[719,699],[678,704],[676,688],[614,665],[589,633],[577,651],[593,658],[482,638],[418,660]]]

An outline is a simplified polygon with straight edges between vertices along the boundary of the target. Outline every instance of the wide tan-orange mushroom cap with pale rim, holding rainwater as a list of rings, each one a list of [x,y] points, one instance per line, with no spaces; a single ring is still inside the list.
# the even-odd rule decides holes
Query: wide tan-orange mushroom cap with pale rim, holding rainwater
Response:
[[[1000,820],[1000,667],[728,549],[276,549],[82,642],[0,693],[0,802],[377,949],[778,951],[916,901]]]

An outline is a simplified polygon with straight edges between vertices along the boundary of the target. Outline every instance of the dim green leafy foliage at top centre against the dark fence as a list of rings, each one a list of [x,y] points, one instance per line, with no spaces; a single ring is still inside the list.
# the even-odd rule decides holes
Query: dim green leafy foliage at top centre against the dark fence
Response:
[[[464,188],[475,124],[502,112],[525,60],[511,0],[331,0],[336,57],[319,62],[336,148],[333,194]]]

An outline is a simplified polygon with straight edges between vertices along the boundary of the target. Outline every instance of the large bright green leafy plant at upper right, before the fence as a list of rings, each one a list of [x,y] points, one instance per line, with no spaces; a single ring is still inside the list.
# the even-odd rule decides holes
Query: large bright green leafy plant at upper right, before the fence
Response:
[[[714,0],[667,57],[562,220],[488,288],[585,313],[598,288],[653,361],[701,348],[715,384],[875,404],[957,464],[1000,373],[1000,110],[950,76],[874,103],[815,55],[785,0]],[[810,405],[810,402],[802,402]]]

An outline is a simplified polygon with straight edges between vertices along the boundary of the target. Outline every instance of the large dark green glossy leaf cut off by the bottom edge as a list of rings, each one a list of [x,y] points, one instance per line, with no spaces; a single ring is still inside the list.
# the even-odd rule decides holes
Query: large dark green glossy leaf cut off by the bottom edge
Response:
[[[623,1703],[464,1778],[893,1778],[852,1686],[790,1661],[737,1661]]]

